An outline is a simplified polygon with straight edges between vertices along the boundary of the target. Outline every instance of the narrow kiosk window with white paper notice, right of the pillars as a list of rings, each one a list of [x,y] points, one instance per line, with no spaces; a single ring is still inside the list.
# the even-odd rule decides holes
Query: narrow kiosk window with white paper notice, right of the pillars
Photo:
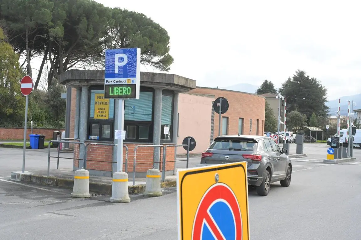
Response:
[[[171,141],[172,139],[172,120],[173,120],[173,92],[163,90],[162,95],[162,119],[160,139]],[[164,141],[163,141],[164,142]]]

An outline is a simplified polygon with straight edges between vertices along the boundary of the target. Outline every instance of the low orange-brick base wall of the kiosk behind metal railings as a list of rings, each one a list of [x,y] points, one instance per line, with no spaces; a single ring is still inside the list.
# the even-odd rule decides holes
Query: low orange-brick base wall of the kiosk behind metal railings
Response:
[[[134,148],[139,144],[126,143],[128,147],[128,164],[127,172],[133,172],[133,160],[134,160]],[[79,144],[74,144],[74,158],[79,158]],[[153,150],[152,147],[137,148],[136,152],[136,167],[135,172],[147,172],[148,169],[153,167]],[[87,151],[87,169],[100,170],[100,171],[112,171],[112,153],[113,146],[102,145],[89,145]],[[163,151],[161,150],[161,158]],[[123,162],[125,163],[126,151],[123,151]],[[94,162],[92,160],[96,160]],[[166,171],[172,171],[174,169],[174,162],[167,162],[174,160],[174,148],[169,147],[166,149]],[[98,162],[101,161],[101,162]],[[113,159],[116,162],[116,159]],[[138,164],[140,163],[140,164]],[[144,163],[144,164],[142,164]],[[79,161],[74,160],[74,166],[78,167]],[[161,165],[162,166],[162,165]],[[161,170],[162,168],[160,168]],[[123,171],[125,171],[125,164],[123,165]]]

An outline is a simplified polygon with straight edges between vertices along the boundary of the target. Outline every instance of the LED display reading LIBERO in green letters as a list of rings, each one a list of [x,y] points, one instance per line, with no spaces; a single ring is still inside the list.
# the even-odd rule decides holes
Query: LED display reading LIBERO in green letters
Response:
[[[136,92],[135,84],[104,86],[104,98],[106,99],[135,98],[135,92]]]

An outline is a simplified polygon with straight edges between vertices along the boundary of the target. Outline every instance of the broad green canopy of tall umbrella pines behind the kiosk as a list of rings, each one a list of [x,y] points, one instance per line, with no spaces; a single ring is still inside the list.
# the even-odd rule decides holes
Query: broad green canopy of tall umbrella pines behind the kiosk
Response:
[[[35,89],[48,64],[48,87],[68,69],[104,68],[107,48],[139,47],[141,62],[161,71],[169,71],[173,63],[169,35],[159,24],[92,0],[3,0],[0,22],[29,74],[31,59],[43,59],[33,76]]]

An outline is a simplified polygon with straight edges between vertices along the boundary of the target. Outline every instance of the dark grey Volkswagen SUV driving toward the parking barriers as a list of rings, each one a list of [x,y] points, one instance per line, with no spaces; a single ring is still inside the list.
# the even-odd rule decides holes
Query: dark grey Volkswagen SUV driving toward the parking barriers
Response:
[[[280,149],[270,137],[219,136],[202,153],[200,166],[247,162],[248,185],[256,186],[258,195],[266,196],[273,182],[280,181],[284,187],[291,184],[292,163],[285,153],[287,149]]]

